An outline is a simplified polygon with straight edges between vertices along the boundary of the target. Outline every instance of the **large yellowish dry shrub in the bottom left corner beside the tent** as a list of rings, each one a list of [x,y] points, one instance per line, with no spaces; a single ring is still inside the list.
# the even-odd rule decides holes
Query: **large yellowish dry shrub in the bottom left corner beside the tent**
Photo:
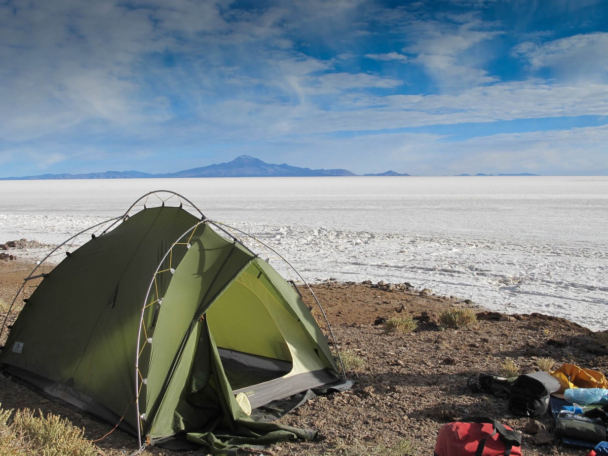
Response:
[[[10,412],[9,412],[10,413]],[[17,410],[9,428],[13,441],[21,445],[18,454],[44,456],[97,456],[97,448],[86,440],[84,429],[72,426],[65,418],[40,410]],[[0,454],[10,454],[0,451]],[[17,453],[15,453],[17,454]]]

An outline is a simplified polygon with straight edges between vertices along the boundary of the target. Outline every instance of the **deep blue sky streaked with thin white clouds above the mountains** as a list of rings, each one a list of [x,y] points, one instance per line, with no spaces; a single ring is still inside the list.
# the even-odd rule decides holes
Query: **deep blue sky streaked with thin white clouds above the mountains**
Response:
[[[0,176],[608,174],[608,1],[0,0]]]

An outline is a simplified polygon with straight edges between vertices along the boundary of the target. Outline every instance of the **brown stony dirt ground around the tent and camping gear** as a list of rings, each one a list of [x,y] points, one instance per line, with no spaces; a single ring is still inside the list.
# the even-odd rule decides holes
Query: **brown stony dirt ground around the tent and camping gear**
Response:
[[[12,302],[33,266],[0,261],[0,300]],[[35,283],[27,286],[32,288]],[[330,281],[314,285],[313,290],[340,351],[359,357],[364,364],[347,371],[347,377],[356,381],[352,389],[319,396],[280,420],[319,430],[319,441],[290,441],[270,447],[264,454],[432,455],[440,427],[464,416],[490,416],[522,431],[525,455],[587,454],[586,449],[561,443],[554,435],[550,413],[536,420],[514,416],[507,401],[472,393],[466,383],[473,373],[499,372],[505,359],[513,360],[522,373],[539,370],[541,358],[553,359],[554,368],[572,362],[608,373],[608,350],[598,346],[592,331],[541,314],[490,313],[482,308],[483,303],[438,296],[409,284]],[[472,308],[480,321],[458,330],[440,330],[434,321],[451,307]],[[313,314],[320,316],[316,309]],[[385,333],[385,326],[379,323],[391,316],[412,316],[418,327],[411,333]],[[49,401],[2,375],[0,402],[3,409],[29,407],[64,416],[84,427],[91,440],[102,438],[114,427]],[[382,448],[398,443],[414,449],[382,453]],[[137,440],[116,430],[97,445],[100,454],[123,455],[136,451]],[[148,447],[143,454],[184,452]]]

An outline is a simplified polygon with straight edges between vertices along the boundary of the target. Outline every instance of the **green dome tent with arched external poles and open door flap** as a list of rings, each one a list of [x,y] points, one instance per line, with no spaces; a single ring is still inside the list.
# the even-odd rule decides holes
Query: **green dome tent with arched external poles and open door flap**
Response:
[[[161,206],[147,207],[153,196]],[[165,205],[174,198],[179,207]],[[120,422],[140,446],[187,434],[219,452],[312,437],[247,415],[342,380],[294,286],[173,192],[96,227],[26,279],[44,277],[10,328],[2,371]]]

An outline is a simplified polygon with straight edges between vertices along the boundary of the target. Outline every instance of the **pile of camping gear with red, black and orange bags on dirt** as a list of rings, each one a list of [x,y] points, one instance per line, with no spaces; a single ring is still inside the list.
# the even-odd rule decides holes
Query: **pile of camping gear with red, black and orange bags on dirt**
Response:
[[[509,409],[514,415],[535,417],[550,409],[556,423],[556,432],[564,443],[593,448],[589,455],[608,454],[608,381],[601,372],[574,364],[564,364],[551,373],[527,373],[510,379],[492,374],[474,375],[469,378],[468,387],[473,392],[485,392],[508,399]],[[452,433],[449,438],[461,442],[472,439],[477,443],[491,439],[502,441],[500,445],[504,447],[503,450],[486,453],[485,450],[482,452],[476,445],[472,445],[470,452],[437,451],[437,448],[441,449],[440,439],[446,440],[445,436],[442,437],[442,432],[445,434],[442,427],[435,454],[520,454],[513,453],[513,442],[517,441],[513,434],[505,437],[496,422],[486,420],[494,423],[493,433],[490,432],[492,427],[489,427],[485,429],[485,434],[479,430],[477,434],[481,432],[480,435],[472,435],[470,432],[459,435]],[[452,425],[454,423],[449,424]]]

